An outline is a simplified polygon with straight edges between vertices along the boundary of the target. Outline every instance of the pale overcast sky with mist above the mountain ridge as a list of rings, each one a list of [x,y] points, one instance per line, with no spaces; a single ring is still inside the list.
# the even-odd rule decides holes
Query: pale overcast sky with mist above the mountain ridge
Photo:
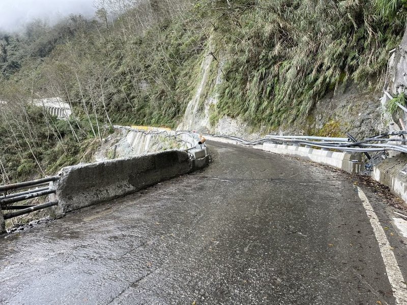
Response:
[[[18,31],[36,18],[50,23],[69,14],[93,16],[93,0],[0,0],[0,29]]]

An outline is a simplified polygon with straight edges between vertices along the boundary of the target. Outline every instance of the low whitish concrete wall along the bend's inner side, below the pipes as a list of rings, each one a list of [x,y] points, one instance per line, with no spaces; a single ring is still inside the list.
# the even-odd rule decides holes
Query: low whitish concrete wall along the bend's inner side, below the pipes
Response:
[[[240,144],[238,141],[209,137],[206,138],[210,141],[216,141],[227,144]],[[255,149],[261,149],[265,151],[270,151],[270,153],[288,155],[293,157],[298,157],[301,159],[313,161],[316,163],[321,163],[333,167],[343,169],[348,172],[358,173],[364,169],[364,163],[362,162],[361,154],[349,154],[342,152],[334,152],[330,150],[315,149],[310,147],[294,146],[294,145],[280,145],[271,142],[266,142],[259,145],[243,145],[247,147],[253,147]]]

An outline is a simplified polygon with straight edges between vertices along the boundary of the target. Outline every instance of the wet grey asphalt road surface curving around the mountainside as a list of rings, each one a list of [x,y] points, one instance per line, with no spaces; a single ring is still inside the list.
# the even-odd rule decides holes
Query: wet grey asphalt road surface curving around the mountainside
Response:
[[[202,172],[2,236],[0,303],[407,302],[405,284],[393,293],[394,274],[347,175],[209,146],[214,163]],[[362,190],[394,248],[399,269],[390,269],[405,279],[392,212]]]

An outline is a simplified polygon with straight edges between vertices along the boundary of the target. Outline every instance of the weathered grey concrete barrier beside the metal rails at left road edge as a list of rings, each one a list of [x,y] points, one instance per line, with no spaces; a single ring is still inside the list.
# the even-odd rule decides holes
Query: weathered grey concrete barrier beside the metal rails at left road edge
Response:
[[[53,217],[118,198],[193,170],[188,154],[167,150],[143,156],[65,167],[54,182]]]

